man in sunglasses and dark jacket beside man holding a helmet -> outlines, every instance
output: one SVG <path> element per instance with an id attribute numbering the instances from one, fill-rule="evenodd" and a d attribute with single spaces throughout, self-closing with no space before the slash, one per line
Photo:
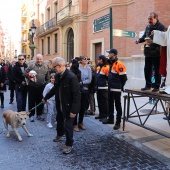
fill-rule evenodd
<path id="1" fill-rule="evenodd" d="M 25 58 L 23 55 L 18 56 L 18 62 L 13 67 L 13 79 L 15 81 L 15 91 L 17 99 L 17 111 L 26 110 L 26 99 L 27 99 L 27 85 L 25 81 Z"/>

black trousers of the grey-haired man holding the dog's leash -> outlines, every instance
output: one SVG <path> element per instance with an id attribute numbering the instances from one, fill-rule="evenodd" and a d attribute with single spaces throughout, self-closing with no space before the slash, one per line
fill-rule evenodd
<path id="1" fill-rule="evenodd" d="M 66 135 L 67 146 L 73 145 L 73 122 L 74 118 L 65 118 L 62 112 L 57 112 L 57 135 L 63 136 Z"/>

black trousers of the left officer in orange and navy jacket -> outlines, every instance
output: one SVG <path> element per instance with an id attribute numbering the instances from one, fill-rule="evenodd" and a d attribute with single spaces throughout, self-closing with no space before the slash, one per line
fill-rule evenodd
<path id="1" fill-rule="evenodd" d="M 108 113 L 108 90 L 100 89 L 97 91 L 97 102 L 99 108 L 99 116 L 106 118 Z"/>

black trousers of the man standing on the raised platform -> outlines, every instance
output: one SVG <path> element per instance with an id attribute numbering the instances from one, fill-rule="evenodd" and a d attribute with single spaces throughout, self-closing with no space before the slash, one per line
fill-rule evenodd
<path id="1" fill-rule="evenodd" d="M 144 75 L 145 75 L 145 81 L 146 81 L 146 87 L 153 87 L 158 89 L 161 84 L 161 75 L 159 74 L 159 66 L 160 66 L 160 57 L 145 57 L 145 67 L 144 67 Z M 154 67 L 155 71 L 155 83 L 152 84 L 151 82 L 151 76 L 152 76 L 152 70 Z"/>

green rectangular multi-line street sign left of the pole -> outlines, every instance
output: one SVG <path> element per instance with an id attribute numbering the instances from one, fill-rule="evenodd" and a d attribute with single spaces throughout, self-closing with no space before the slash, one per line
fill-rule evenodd
<path id="1" fill-rule="evenodd" d="M 93 21 L 93 32 L 101 31 L 110 27 L 110 14 L 106 14 Z"/>

